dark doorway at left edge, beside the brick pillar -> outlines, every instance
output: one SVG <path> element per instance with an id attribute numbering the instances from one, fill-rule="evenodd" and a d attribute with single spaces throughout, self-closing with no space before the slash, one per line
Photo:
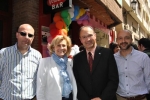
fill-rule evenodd
<path id="1" fill-rule="evenodd" d="M 12 34 L 11 0 L 0 0 L 0 49 L 11 45 Z"/>

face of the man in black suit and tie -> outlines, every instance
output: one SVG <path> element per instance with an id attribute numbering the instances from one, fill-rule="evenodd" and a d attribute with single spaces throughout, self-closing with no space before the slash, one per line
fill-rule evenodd
<path id="1" fill-rule="evenodd" d="M 96 46 L 96 34 L 90 27 L 83 27 L 80 31 L 80 41 L 90 51 Z"/>

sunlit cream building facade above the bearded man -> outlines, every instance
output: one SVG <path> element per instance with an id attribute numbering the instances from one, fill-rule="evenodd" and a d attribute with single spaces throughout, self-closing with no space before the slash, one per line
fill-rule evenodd
<path id="1" fill-rule="evenodd" d="M 132 1 L 136 2 L 133 9 Z M 150 3 L 149 0 L 122 0 L 123 23 L 115 27 L 116 31 L 128 29 L 132 31 L 133 42 L 150 36 Z"/>

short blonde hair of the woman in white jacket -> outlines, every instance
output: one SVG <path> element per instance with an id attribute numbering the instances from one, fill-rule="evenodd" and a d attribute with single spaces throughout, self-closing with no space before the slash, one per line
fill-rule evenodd
<path id="1" fill-rule="evenodd" d="M 66 55 L 69 56 L 71 52 L 71 39 L 66 35 L 57 35 L 51 42 L 49 46 L 50 54 L 54 53 L 54 47 L 58 45 L 62 40 L 66 40 L 67 42 L 67 52 Z"/>

